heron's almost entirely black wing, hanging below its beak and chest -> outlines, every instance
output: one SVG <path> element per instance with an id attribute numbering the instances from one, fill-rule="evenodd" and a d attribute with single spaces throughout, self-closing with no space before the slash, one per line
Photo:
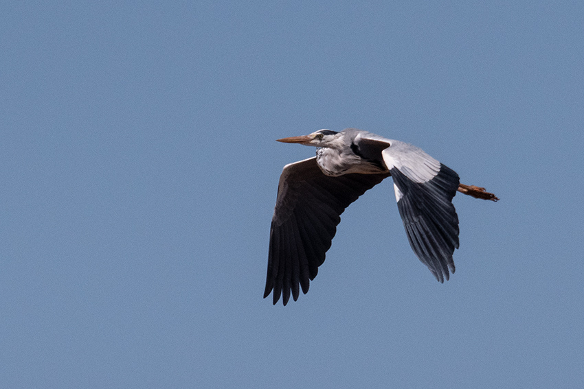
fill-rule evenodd
<path id="1" fill-rule="evenodd" d="M 282 294 L 286 305 L 290 292 L 297 300 L 299 285 L 306 294 L 337 232 L 341 213 L 388 176 L 325 176 L 314 157 L 284 166 L 270 228 L 264 297 L 273 290 L 273 303 Z"/>

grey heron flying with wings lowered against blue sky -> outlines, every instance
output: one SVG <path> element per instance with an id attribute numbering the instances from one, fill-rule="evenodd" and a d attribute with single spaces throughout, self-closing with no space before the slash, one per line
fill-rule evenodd
<path id="1" fill-rule="evenodd" d="M 284 166 L 278 184 L 268 253 L 264 298 L 286 305 L 324 262 L 341 213 L 359 196 L 392 176 L 399 214 L 414 253 L 441 283 L 454 272 L 458 248 L 456 191 L 499 200 L 474 185 L 460 184 L 458 174 L 423 150 L 354 128 L 318 130 L 278 139 L 317 147 L 316 156 Z"/>

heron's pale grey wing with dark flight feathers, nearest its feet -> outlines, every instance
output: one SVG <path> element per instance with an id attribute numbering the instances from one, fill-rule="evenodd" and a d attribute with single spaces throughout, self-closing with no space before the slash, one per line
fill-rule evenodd
<path id="1" fill-rule="evenodd" d="M 381 154 L 394 178 L 409 245 L 436 279 L 444 282 L 449 270 L 455 270 L 452 254 L 458 248 L 458 215 L 452 204 L 458 174 L 413 145 L 388 142 L 390 147 Z"/>

